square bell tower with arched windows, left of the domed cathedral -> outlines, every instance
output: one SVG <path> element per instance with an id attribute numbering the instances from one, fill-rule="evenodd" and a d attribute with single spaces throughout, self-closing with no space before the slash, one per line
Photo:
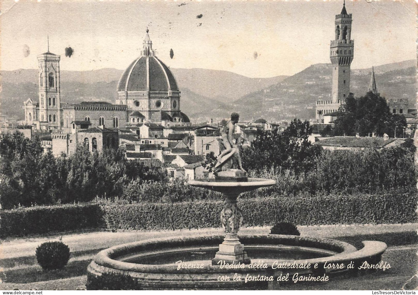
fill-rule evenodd
<path id="1" fill-rule="evenodd" d="M 41 129 L 61 128 L 60 56 L 48 51 L 38 55 L 39 124 Z"/>

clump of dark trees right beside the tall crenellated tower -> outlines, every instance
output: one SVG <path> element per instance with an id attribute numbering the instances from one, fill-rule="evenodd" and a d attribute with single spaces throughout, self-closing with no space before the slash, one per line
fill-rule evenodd
<path id="1" fill-rule="evenodd" d="M 345 104 L 340 107 L 340 115 L 334 125 L 330 135 L 359 133 L 360 136 L 370 136 L 375 132 L 378 136 L 386 133 L 394 137 L 396 132 L 397 137 L 403 137 L 407 127 L 405 117 L 401 114 L 392 114 L 386 99 L 373 92 L 367 92 L 357 99 L 353 96 L 347 97 Z"/>

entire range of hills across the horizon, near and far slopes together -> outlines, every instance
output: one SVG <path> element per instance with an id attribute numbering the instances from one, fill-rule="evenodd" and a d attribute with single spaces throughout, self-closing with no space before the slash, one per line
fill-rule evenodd
<path id="1" fill-rule="evenodd" d="M 331 96 L 331 64 L 314 64 L 290 76 L 255 79 L 226 71 L 172 69 L 181 90 L 181 109 L 190 119 L 220 120 L 237 111 L 242 120 L 314 119 L 315 102 Z M 359 97 L 368 90 L 372 69 L 352 69 L 350 89 Z M 63 102 L 115 102 L 116 86 L 122 71 L 62 71 Z M 415 61 L 375 67 L 377 89 L 387 98 L 416 100 Z M 1 71 L 1 112 L 9 118 L 23 117 L 23 102 L 38 100 L 37 70 Z"/>

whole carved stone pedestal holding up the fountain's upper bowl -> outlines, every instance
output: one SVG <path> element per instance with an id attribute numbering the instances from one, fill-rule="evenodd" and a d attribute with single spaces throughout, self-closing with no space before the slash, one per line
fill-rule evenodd
<path id="1" fill-rule="evenodd" d="M 249 264 L 250 258 L 244 251 L 244 245 L 240 243 L 237 233 L 244 221 L 242 211 L 237 206 L 237 197 L 240 193 L 224 193 L 226 196 L 225 207 L 221 212 L 221 224 L 225 231 L 225 238 L 219 244 L 219 251 L 212 259 L 212 265 L 218 265 L 219 261 L 226 263 Z"/>

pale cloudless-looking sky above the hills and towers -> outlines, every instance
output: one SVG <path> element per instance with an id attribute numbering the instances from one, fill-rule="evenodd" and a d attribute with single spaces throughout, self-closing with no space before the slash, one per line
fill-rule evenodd
<path id="1" fill-rule="evenodd" d="M 416 58 L 413 0 L 347 1 L 346 8 L 353 14 L 352 68 Z M 140 55 L 148 26 L 157 56 L 173 68 L 292 75 L 330 63 L 329 42 L 341 9 L 342 0 L 1 0 L 1 69 L 37 69 L 47 35 L 50 51 L 61 55 L 61 70 L 125 69 Z M 64 55 L 68 46 L 75 50 L 71 58 Z"/>

